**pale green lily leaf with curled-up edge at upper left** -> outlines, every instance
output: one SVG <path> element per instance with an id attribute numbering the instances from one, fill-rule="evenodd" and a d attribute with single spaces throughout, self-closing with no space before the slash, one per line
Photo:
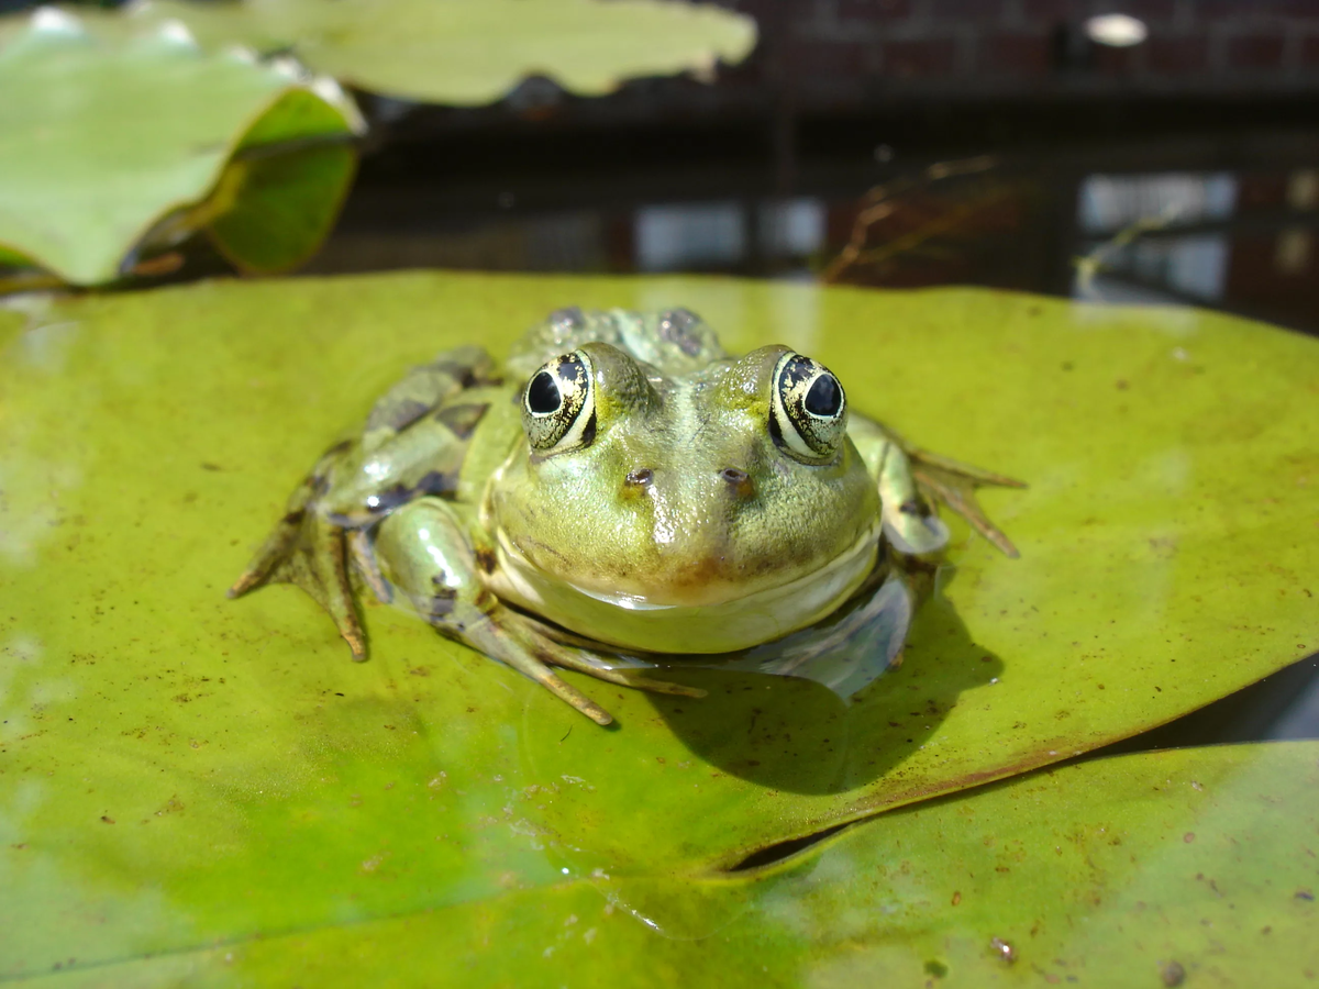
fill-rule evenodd
<path id="1" fill-rule="evenodd" d="M 0 262 L 103 284 L 216 218 L 243 268 L 310 253 L 352 177 L 351 104 L 203 55 L 178 24 L 132 36 L 107 22 L 88 32 L 42 11 L 0 50 Z M 247 158 L 231 162 L 239 149 Z"/>

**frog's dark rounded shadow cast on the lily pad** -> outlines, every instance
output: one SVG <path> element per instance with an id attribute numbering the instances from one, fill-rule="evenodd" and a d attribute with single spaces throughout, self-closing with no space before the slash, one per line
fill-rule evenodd
<path id="1" fill-rule="evenodd" d="M 799 794 L 863 786 L 923 746 L 964 690 L 988 684 L 1002 671 L 997 657 L 971 641 L 951 603 L 929 595 L 933 575 L 915 578 L 917 599 L 929 600 L 911 620 L 904 661 L 886 673 L 902 644 L 885 634 L 896 633 L 896 621 L 867 624 L 865 636 L 835 641 L 835 651 L 778 670 L 791 675 L 669 669 L 666 676 L 710 695 L 649 700 L 674 734 L 721 771 Z M 894 600 L 886 607 L 894 616 L 900 611 Z"/>

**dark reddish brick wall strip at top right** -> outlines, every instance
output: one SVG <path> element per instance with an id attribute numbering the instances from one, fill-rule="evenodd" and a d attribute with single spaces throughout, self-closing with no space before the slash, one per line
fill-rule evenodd
<path id="1" fill-rule="evenodd" d="M 807 92 L 1319 90 L 1319 0 L 724 0 L 761 26 L 757 74 Z M 1091 42 L 1120 12 L 1145 42 Z"/>

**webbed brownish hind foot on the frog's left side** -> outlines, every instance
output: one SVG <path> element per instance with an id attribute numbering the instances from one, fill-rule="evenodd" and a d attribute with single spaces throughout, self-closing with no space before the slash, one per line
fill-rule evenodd
<path id="1" fill-rule="evenodd" d="M 351 533 L 346 539 L 342 526 L 332 524 L 310 506 L 321 483 L 322 468 L 335 452 L 331 450 L 322 458 L 317 469 L 289 498 L 284 518 L 276 524 L 247 570 L 233 582 L 228 596 L 240 597 L 266 584 L 295 584 L 328 612 L 339 634 L 352 650 L 352 658 L 360 662 L 367 658 L 367 637 L 357 620 L 352 585 L 348 582 L 346 542 L 353 546 L 352 559 L 357 562 L 367 583 L 375 587 L 372 575 L 375 582 L 383 582 L 369 558 L 363 560 L 360 556 L 361 551 L 356 543 L 360 534 Z"/>

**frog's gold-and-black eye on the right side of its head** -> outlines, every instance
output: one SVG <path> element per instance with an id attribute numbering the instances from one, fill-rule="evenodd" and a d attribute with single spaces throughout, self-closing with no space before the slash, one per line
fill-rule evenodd
<path id="1" fill-rule="evenodd" d="M 834 372 L 799 353 L 785 353 L 774 368 L 769 433 L 803 460 L 832 459 L 847 436 L 847 396 Z"/>

